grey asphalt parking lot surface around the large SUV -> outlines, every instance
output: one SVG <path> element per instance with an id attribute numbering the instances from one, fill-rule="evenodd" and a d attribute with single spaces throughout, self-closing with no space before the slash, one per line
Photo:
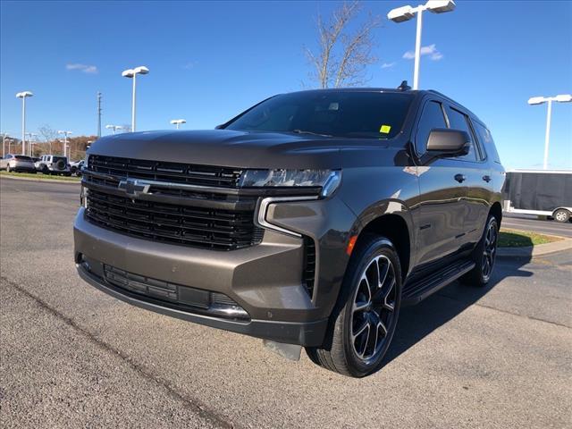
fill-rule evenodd
<path id="1" fill-rule="evenodd" d="M 356 380 L 81 282 L 78 190 L 0 180 L 3 427 L 572 425 L 572 251 L 404 309 L 386 365 Z"/>

